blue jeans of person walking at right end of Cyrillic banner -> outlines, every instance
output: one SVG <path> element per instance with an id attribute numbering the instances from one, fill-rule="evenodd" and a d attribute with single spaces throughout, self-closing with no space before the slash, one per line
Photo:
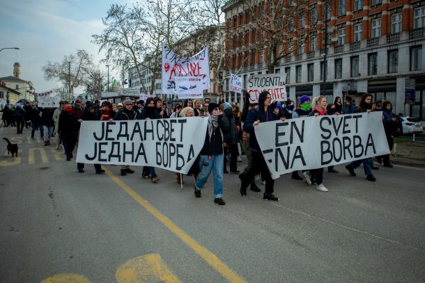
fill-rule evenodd
<path id="1" fill-rule="evenodd" d="M 214 197 L 223 196 L 223 163 L 224 155 L 201 155 L 199 156 L 199 175 L 196 179 L 195 187 L 197 190 L 201 190 L 205 185 L 208 177 L 210 177 L 211 171 L 214 175 Z"/>

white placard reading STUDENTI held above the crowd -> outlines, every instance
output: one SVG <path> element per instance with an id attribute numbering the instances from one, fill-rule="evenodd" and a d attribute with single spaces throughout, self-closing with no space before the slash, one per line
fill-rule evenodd
<path id="1" fill-rule="evenodd" d="M 258 96 L 264 90 L 270 92 L 270 96 L 273 100 L 282 102 L 287 99 L 286 94 L 286 74 L 254 74 L 249 76 L 248 79 L 248 93 L 249 100 L 254 103 L 258 102 Z"/>

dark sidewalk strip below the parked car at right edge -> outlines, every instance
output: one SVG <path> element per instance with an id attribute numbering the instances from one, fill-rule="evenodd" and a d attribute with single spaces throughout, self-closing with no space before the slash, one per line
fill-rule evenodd
<path id="1" fill-rule="evenodd" d="M 425 168 L 425 143 L 394 138 L 391 163 Z"/>

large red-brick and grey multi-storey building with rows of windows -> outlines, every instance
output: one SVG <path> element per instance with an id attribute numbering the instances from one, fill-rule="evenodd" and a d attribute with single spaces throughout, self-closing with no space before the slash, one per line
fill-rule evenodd
<path id="1" fill-rule="evenodd" d="M 270 13 L 270 1 L 261 4 L 265 14 Z M 284 5 L 297 5 L 297 1 L 284 0 Z M 289 55 L 275 67 L 275 72 L 286 73 L 289 98 L 299 101 L 302 95 L 325 93 L 328 102 L 344 95 L 358 101 L 369 92 L 375 100 L 392 101 L 394 113 L 425 120 L 425 1 L 325 0 L 308 1 L 305 6 L 306 15 L 295 18 L 293 26 L 282 35 L 284 43 L 279 51 Z M 240 0 L 229 1 L 222 10 L 229 31 L 227 74 L 239 71 L 246 89 L 250 75 L 268 72 L 265 63 L 268 50 L 256 49 L 256 42 L 268 38 L 260 29 L 249 28 L 252 17 Z M 285 42 L 293 40 L 291 32 L 313 25 L 316 31 L 304 44 L 288 50 Z M 233 43 L 240 35 L 245 35 L 242 46 Z M 326 90 L 323 90 L 324 68 Z M 224 88 L 229 90 L 227 86 Z M 415 102 L 406 103 L 405 94 L 412 88 Z"/>

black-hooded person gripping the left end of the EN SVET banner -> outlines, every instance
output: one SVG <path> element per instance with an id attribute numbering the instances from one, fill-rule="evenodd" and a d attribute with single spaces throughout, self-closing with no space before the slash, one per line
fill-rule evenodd
<path id="1" fill-rule="evenodd" d="M 267 90 L 261 92 L 258 96 L 258 108 L 249 111 L 247 120 L 245 120 L 245 124 L 243 125 L 243 130 L 249 133 L 249 145 L 251 145 L 252 151 L 252 167 L 247 174 L 240 176 L 240 194 L 242 196 L 247 195 L 247 186 L 252 183 L 255 175 L 261 172 L 261 176 L 265 179 L 263 200 L 278 202 L 279 197 L 273 195 L 275 180 L 273 180 L 270 175 L 270 171 L 268 170 L 267 163 L 265 163 L 254 131 L 255 127 L 260 123 L 277 120 L 275 113 L 270 109 L 271 100 L 272 98 Z M 281 118 L 281 120 L 285 121 L 286 119 Z"/>

